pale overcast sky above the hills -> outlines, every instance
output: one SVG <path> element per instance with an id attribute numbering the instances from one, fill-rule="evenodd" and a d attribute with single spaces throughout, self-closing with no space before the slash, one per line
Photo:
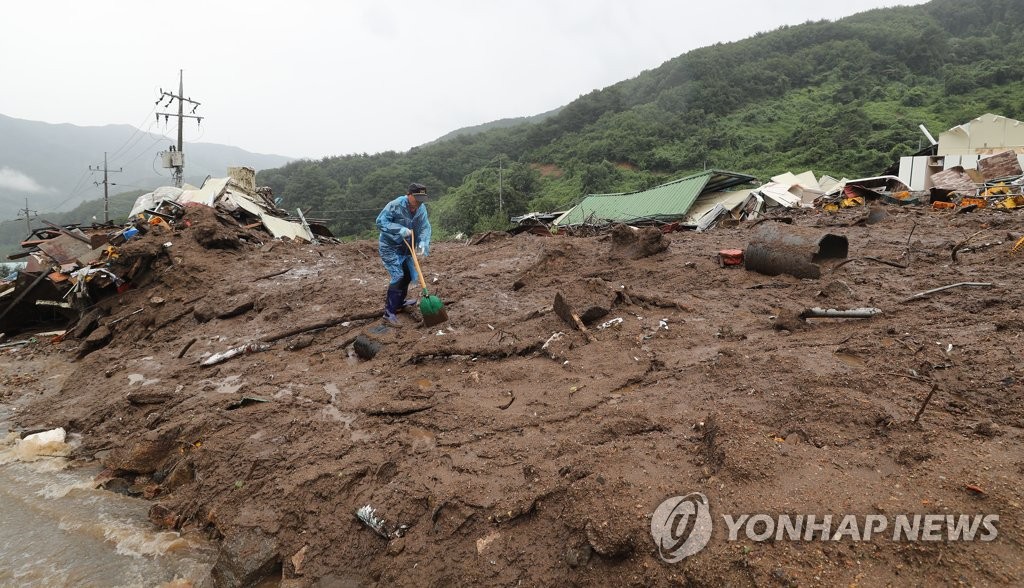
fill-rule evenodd
<path id="1" fill-rule="evenodd" d="M 183 69 L 206 117 L 186 141 L 306 158 L 406 151 L 550 111 L 690 49 L 921 3 L 5 2 L 0 114 L 165 132 L 154 102 Z"/>

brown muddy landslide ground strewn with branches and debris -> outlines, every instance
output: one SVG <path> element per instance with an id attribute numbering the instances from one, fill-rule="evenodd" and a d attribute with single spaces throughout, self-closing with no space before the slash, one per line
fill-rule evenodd
<path id="1" fill-rule="evenodd" d="M 365 320 L 384 297 L 376 242 L 194 225 L 127 253 L 153 256 L 152 282 L 100 305 L 105 346 L 5 352 L 2 402 L 24 428 L 81 433 L 80 457 L 108 468 L 97 484 L 152 498 L 156 524 L 221 541 L 223 584 L 1020 585 L 1024 216 L 888 212 L 795 213 L 858 258 L 818 280 L 720 267 L 750 223 L 636 259 L 657 244 L 435 243 L 424 270 L 451 321 L 430 329 Z M 1001 244 L 954 262 L 972 235 Z M 961 282 L 994 286 L 904 302 Z M 557 293 L 587 333 L 552 310 Z M 884 313 L 796 317 L 811 306 Z M 357 335 L 376 356 L 354 353 Z M 650 517 L 691 492 L 716 529 L 667 563 Z M 368 504 L 404 536 L 360 522 Z M 723 513 L 999 520 L 991 542 L 754 542 L 728 541 Z"/>

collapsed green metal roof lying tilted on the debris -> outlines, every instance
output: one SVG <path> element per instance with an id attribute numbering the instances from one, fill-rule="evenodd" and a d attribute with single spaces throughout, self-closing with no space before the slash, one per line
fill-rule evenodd
<path id="1" fill-rule="evenodd" d="M 705 192 L 720 192 L 754 181 L 752 175 L 708 170 L 650 190 L 628 194 L 593 194 L 563 214 L 555 224 L 568 226 L 603 222 L 660 220 L 671 222 L 686 216 Z"/>

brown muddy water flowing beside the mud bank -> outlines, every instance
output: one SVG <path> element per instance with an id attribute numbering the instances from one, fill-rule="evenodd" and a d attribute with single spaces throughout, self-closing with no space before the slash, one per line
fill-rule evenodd
<path id="1" fill-rule="evenodd" d="M 212 547 L 157 531 L 143 500 L 94 490 L 96 468 L 17 455 L 4 416 L 0 407 L 0 586 L 176 586 L 209 575 Z"/>

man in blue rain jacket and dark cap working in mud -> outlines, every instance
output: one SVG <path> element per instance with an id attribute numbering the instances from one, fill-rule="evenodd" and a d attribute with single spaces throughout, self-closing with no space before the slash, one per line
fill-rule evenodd
<path id="1" fill-rule="evenodd" d="M 384 267 L 391 276 L 384 301 L 384 320 L 398 324 L 397 313 L 407 306 L 415 306 L 416 300 L 407 300 L 409 285 L 417 279 L 413 256 L 406 242 L 415 237 L 417 255 L 430 254 L 430 220 L 427 218 L 427 186 L 413 182 L 406 196 L 387 203 L 377 215 L 377 228 L 381 232 L 379 251 Z"/>

